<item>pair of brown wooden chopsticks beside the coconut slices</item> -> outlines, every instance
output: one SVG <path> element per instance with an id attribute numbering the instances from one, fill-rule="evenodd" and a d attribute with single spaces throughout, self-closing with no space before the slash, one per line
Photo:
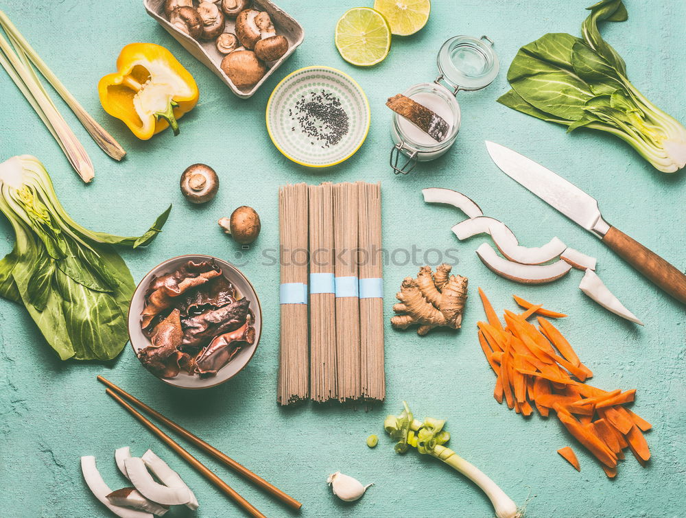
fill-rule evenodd
<path id="1" fill-rule="evenodd" d="M 150 408 L 148 405 L 143 403 L 143 401 L 140 401 L 139 399 L 136 399 L 132 395 L 130 395 L 126 390 L 123 390 L 116 386 L 115 384 L 112 383 L 112 381 L 108 381 L 108 379 L 105 379 L 102 376 L 98 376 L 97 380 L 100 381 L 102 384 L 106 385 L 108 388 L 105 390 L 108 396 L 112 397 L 117 403 L 119 403 L 123 408 L 128 410 L 132 416 L 134 416 L 138 421 L 140 421 L 147 429 L 150 430 L 154 435 L 158 436 L 167 446 L 169 446 L 171 449 L 176 451 L 176 453 L 186 462 L 191 464 L 191 467 L 196 469 L 201 475 L 204 476 L 207 480 L 212 482 L 217 488 L 220 488 L 221 491 L 226 493 L 230 499 L 232 499 L 234 502 L 236 502 L 241 508 L 243 508 L 250 516 L 256 517 L 256 518 L 266 518 L 265 515 L 259 512 L 255 506 L 250 504 L 248 500 L 246 500 L 244 497 L 241 497 L 233 488 L 231 488 L 224 480 L 219 478 L 213 471 L 210 471 L 209 468 L 207 468 L 200 460 L 196 459 L 193 457 L 191 454 L 188 453 L 182 446 L 180 446 L 174 439 L 169 437 L 165 432 L 163 432 L 161 429 L 159 429 L 152 421 L 147 419 L 143 414 L 138 412 L 135 408 L 133 408 L 129 403 L 124 401 L 125 399 L 136 405 L 138 408 L 143 410 L 143 412 L 149 414 L 150 416 L 154 417 L 157 421 L 160 421 L 161 423 L 164 423 L 167 425 L 169 428 L 174 430 L 177 434 L 188 440 L 190 443 L 193 443 L 202 451 L 205 451 L 207 454 L 210 454 L 213 456 L 215 459 L 219 460 L 220 462 L 226 464 L 230 469 L 233 469 L 236 473 L 239 475 L 243 475 L 245 478 L 250 480 L 250 482 L 253 482 L 263 490 L 265 490 L 267 493 L 275 497 L 276 499 L 281 500 L 284 504 L 287 506 L 293 508 L 293 509 L 300 509 L 303 504 L 298 502 L 298 500 L 294 499 L 293 497 L 287 495 L 281 489 L 277 488 L 276 486 L 272 486 L 269 482 L 264 480 L 263 478 L 259 477 L 259 475 L 256 475 L 255 473 L 252 473 L 248 468 L 242 466 L 232 458 L 228 457 L 226 454 L 223 454 L 221 451 L 213 447 L 212 445 L 209 445 L 206 443 L 204 440 L 199 438 L 196 435 L 191 434 L 187 429 L 184 427 L 181 427 L 174 423 L 174 421 L 170 421 L 167 419 L 165 416 L 157 412 L 156 410 L 153 410 Z"/>

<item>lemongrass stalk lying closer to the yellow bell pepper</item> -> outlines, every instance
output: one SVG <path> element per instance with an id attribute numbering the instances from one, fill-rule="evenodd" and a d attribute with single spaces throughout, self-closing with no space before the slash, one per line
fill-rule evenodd
<path id="1" fill-rule="evenodd" d="M 62 84 L 59 78 L 49 69 L 47 64 L 38 56 L 38 53 L 14 26 L 8 16 L 0 11 L 0 26 L 12 40 L 14 47 L 21 49 L 27 57 L 36 65 L 36 68 L 49 81 L 53 88 L 60 94 L 64 102 L 73 111 L 74 115 L 81 121 L 86 131 L 91 134 L 93 140 L 100 148 L 115 160 L 121 160 L 126 155 L 126 151 L 119 145 L 115 138 L 100 126 L 83 106 L 75 99 L 67 87 Z"/>

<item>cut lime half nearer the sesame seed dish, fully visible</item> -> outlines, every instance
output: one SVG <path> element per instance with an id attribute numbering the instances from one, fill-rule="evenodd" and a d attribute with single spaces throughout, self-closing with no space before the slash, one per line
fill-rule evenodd
<path id="1" fill-rule="evenodd" d="M 366 7 L 349 10 L 336 24 L 336 48 L 358 67 L 383 61 L 390 50 L 390 26 L 381 13 Z"/>

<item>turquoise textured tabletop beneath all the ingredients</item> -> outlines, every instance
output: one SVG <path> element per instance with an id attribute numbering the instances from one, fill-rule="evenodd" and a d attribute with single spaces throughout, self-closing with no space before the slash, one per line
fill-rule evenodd
<path id="1" fill-rule="evenodd" d="M 371 3 L 371 1 L 369 2 Z M 93 517 L 108 511 L 86 488 L 79 457 L 95 455 L 112 488 L 124 485 L 113 452 L 130 445 L 135 455 L 152 447 L 177 469 L 200 502 L 197 513 L 175 508 L 170 517 L 233 517 L 241 511 L 104 393 L 102 374 L 253 469 L 304 507 L 291 513 L 217 462 L 198 458 L 269 517 L 397 517 L 427 515 L 488 518 L 493 509 L 473 484 L 434 459 L 394 454 L 383 433 L 386 414 L 407 399 L 417 416 L 448 420 L 453 449 L 490 475 L 532 518 L 676 518 L 686 514 L 685 311 L 598 239 L 569 222 L 493 165 L 484 139 L 513 148 L 562 174 L 598 198 L 606 219 L 683 270 L 686 268 L 684 174 L 652 169 L 622 142 L 597 132 L 566 135 L 563 128 L 505 108 L 495 99 L 507 89 L 506 69 L 517 49 L 545 32 L 578 35 L 591 0 L 436 0 L 427 26 L 415 36 L 394 38 L 377 67 L 357 69 L 338 55 L 333 30 L 338 17 L 357 4 L 288 1 L 279 4 L 305 27 L 305 42 L 261 90 L 248 100 L 230 93 L 143 10 L 141 1 L 22 1 L 3 5 L 45 62 L 91 114 L 128 151 L 121 163 L 91 141 L 54 95 L 95 164 L 95 180 L 83 185 L 29 104 L 0 73 L 0 158 L 34 154 L 49 169 L 60 200 L 75 220 L 96 230 L 143 232 L 169 202 L 164 232 L 147 250 L 123 252 L 134 279 L 164 259 L 206 253 L 237 264 L 254 283 L 265 316 L 257 354 L 248 368 L 217 388 L 185 391 L 165 386 L 139 365 L 130 346 L 109 364 L 60 362 L 23 308 L 0 301 L 0 515 L 8 518 Z M 627 0 L 629 20 L 605 24 L 602 34 L 626 59 L 632 82 L 657 106 L 686 121 L 686 4 L 676 0 Z M 421 164 L 407 177 L 388 166 L 391 142 L 386 98 L 438 75 L 436 53 L 456 34 L 495 41 L 502 69 L 487 89 L 460 93 L 462 128 L 442 158 Z M 180 121 L 174 138 L 164 132 L 138 141 L 123 123 L 104 113 L 96 84 L 115 70 L 121 47 L 133 41 L 159 43 L 191 71 L 200 86 L 198 107 Z M 265 130 L 264 109 L 277 82 L 300 67 L 322 64 L 350 74 L 368 95 L 372 123 L 362 148 L 345 163 L 324 170 L 300 167 L 283 157 Z M 215 200 L 188 204 L 178 189 L 187 165 L 208 163 L 220 174 Z M 279 349 L 278 185 L 344 180 L 381 180 L 383 244 L 416 252 L 431 263 L 435 251 L 452 250 L 456 272 L 470 280 L 462 329 L 420 338 L 388 326 L 394 292 L 418 266 L 403 252 L 384 271 L 388 398 L 365 412 L 333 405 L 278 408 Z M 521 286 L 500 279 L 477 259 L 483 241 L 458 242 L 450 227 L 464 216 L 450 207 L 425 205 L 423 187 L 449 187 L 471 196 L 486 215 L 506 222 L 522 244 L 541 246 L 554 235 L 598 257 L 598 274 L 646 323 L 637 327 L 589 301 L 578 290 L 581 273 L 556 283 Z M 217 226 L 235 207 L 255 207 L 262 233 L 241 250 Z M 10 226 L 0 222 L 0 253 L 10 251 Z M 416 248 L 413 248 L 416 247 Z M 519 294 L 569 313 L 560 329 L 595 373 L 600 388 L 637 388 L 634 408 L 654 423 L 647 434 L 653 458 L 647 468 L 628 458 L 616 480 L 578 446 L 556 419 L 530 419 L 498 405 L 494 377 L 477 344 L 483 318 L 476 294 L 484 287 L 498 311 L 515 309 Z M 369 434 L 379 445 L 365 445 Z M 185 443 L 182 443 L 185 445 Z M 556 449 L 571 445 L 582 465 L 569 467 Z M 343 471 L 374 482 L 362 500 L 342 504 L 331 495 L 329 473 Z"/>

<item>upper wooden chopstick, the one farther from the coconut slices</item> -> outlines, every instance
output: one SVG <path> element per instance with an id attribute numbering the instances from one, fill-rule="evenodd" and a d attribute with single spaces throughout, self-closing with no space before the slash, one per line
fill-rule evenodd
<path id="1" fill-rule="evenodd" d="M 230 469 L 233 469 L 233 471 L 235 471 L 239 475 L 244 476 L 245 478 L 250 480 L 250 482 L 253 482 L 257 486 L 262 488 L 264 491 L 268 492 L 270 495 L 281 500 L 281 502 L 283 502 L 284 504 L 287 504 L 287 506 L 292 507 L 294 509 L 300 509 L 303 506 L 303 504 L 298 502 L 298 500 L 294 499 L 292 496 L 287 495 L 286 493 L 281 491 L 281 489 L 277 488 L 276 486 L 273 486 L 272 484 L 261 478 L 259 475 L 252 473 L 252 471 L 250 471 L 248 468 L 242 466 L 241 464 L 239 464 L 226 454 L 222 453 L 222 451 L 219 451 L 212 445 L 209 445 L 200 437 L 191 434 L 191 432 L 189 432 L 184 427 L 181 427 L 174 423 L 174 421 L 167 419 L 165 416 L 163 416 L 156 410 L 153 410 L 145 403 L 143 403 L 143 401 L 133 397 L 128 392 L 126 392 L 126 390 L 123 390 L 122 388 L 119 388 L 117 385 L 113 384 L 112 381 L 109 381 L 108 379 L 105 379 L 102 376 L 98 376 L 97 379 L 102 384 L 105 384 L 110 389 L 117 392 L 117 394 L 119 394 L 121 397 L 128 399 L 128 401 L 136 405 L 138 408 L 140 408 L 147 414 L 153 416 L 158 421 L 161 421 L 161 423 L 167 425 L 169 428 L 174 430 L 174 432 L 188 440 L 190 443 L 193 443 L 194 445 L 202 449 L 202 451 L 205 451 L 206 453 L 210 454 L 215 459 L 219 460 L 223 464 L 226 464 L 226 466 L 230 467 Z"/>

